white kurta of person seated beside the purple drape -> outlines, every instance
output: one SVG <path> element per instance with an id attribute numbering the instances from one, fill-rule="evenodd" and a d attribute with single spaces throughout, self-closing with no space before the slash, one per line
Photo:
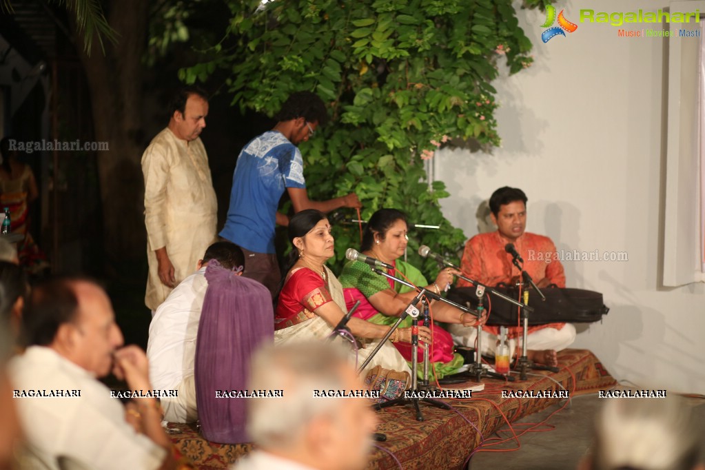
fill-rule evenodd
<path id="1" fill-rule="evenodd" d="M 197 419 L 193 369 L 198 322 L 208 290 L 205 273 L 203 267 L 177 285 L 149 324 L 149 379 L 155 389 L 178 390 L 178 397 L 161 398 L 164 419 L 174 423 Z"/>

